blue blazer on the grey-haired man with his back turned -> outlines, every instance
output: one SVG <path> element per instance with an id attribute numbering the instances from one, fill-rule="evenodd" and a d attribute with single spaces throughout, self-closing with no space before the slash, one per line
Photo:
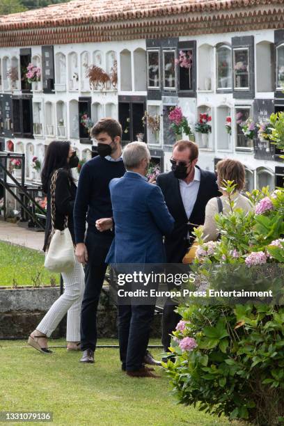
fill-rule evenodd
<path id="1" fill-rule="evenodd" d="M 106 262 L 166 262 L 163 235 L 173 230 L 174 219 L 161 189 L 132 172 L 111 180 L 109 189 L 115 237 Z"/>

